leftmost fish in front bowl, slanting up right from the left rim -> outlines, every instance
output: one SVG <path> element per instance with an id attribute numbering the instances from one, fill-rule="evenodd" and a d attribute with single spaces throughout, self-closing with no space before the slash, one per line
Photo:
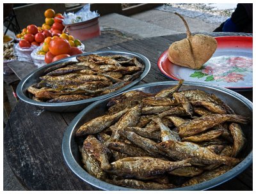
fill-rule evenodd
<path id="1" fill-rule="evenodd" d="M 120 117 L 122 117 L 128 110 L 122 110 L 113 115 L 104 115 L 92 119 L 83 124 L 77 131 L 76 136 L 91 135 L 99 133 L 100 131 L 108 128 L 111 124 L 116 123 Z"/>

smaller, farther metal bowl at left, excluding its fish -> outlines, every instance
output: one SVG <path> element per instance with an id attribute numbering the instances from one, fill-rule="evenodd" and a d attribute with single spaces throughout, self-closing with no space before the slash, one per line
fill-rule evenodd
<path id="1" fill-rule="evenodd" d="M 20 98 L 20 100 L 25 101 L 26 103 L 29 103 L 31 105 L 36 105 L 38 108 L 42 108 L 45 110 L 49 111 L 54 111 L 54 112 L 78 112 L 80 110 L 83 110 L 85 107 L 93 103 L 94 101 L 97 100 L 102 100 L 104 98 L 108 98 L 109 96 L 113 96 L 117 93 L 120 93 L 122 91 L 125 91 L 129 89 L 130 87 L 138 84 L 148 73 L 150 70 L 150 61 L 147 59 L 147 57 L 138 54 L 136 52 L 122 52 L 122 51 L 97 51 L 97 52 L 87 52 L 86 54 L 80 54 L 78 56 L 84 56 L 88 54 L 99 54 L 100 56 L 113 56 L 113 55 L 122 55 L 122 56 L 127 56 L 127 57 L 136 57 L 140 63 L 145 64 L 145 70 L 143 73 L 141 73 L 140 77 L 136 78 L 136 80 L 132 81 L 131 84 L 128 84 L 112 93 L 104 94 L 102 96 L 97 96 L 95 98 L 90 98 L 87 100 L 79 100 L 79 101 L 70 101 L 70 102 L 65 102 L 65 103 L 47 103 L 47 102 L 39 102 L 32 100 L 28 96 L 28 92 L 26 91 L 29 86 L 32 84 L 38 83 L 39 77 L 44 75 L 44 71 L 56 64 L 64 63 L 67 61 L 77 61 L 76 56 L 68 57 L 65 59 L 62 59 L 58 62 L 51 63 L 45 66 L 42 66 L 38 70 L 33 71 L 29 75 L 27 75 L 25 78 L 23 78 L 19 85 L 17 86 L 16 92 L 17 96 Z"/>

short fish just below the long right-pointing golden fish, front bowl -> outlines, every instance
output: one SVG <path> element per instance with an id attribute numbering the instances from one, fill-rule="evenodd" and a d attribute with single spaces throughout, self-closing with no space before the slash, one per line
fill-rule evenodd
<path id="1" fill-rule="evenodd" d="M 217 130 L 209 130 L 202 132 L 197 135 L 191 135 L 189 137 L 184 137 L 182 138 L 182 141 L 187 141 L 187 142 L 205 142 L 212 140 L 214 138 L 220 137 L 223 133 L 223 130 L 217 129 Z"/>

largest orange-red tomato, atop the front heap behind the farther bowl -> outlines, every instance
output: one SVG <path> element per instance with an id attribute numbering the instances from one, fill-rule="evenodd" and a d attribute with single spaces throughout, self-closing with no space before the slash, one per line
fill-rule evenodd
<path id="1" fill-rule="evenodd" d="M 71 47 L 67 40 L 62 38 L 54 38 L 49 43 L 49 50 L 52 54 L 54 54 L 54 56 L 58 56 L 60 54 L 68 54 Z"/>

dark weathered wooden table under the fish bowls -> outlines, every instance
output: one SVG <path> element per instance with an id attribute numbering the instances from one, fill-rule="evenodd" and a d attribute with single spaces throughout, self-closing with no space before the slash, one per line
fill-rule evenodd
<path id="1" fill-rule="evenodd" d="M 207 34 L 252 36 L 252 34 L 240 33 Z M 175 34 L 127 40 L 106 46 L 101 50 L 129 50 L 143 54 L 148 57 L 152 66 L 147 77 L 140 84 L 166 81 L 170 79 L 159 71 L 157 60 L 173 41 L 185 37 L 186 34 Z M 90 41 L 93 45 L 93 40 Z M 15 71 L 15 73 L 19 77 L 19 72 Z M 252 101 L 252 91 L 241 94 Z M 73 174 L 63 159 L 61 151 L 63 133 L 77 114 L 78 112 L 60 114 L 42 111 L 23 101 L 19 101 L 13 109 L 4 130 L 4 149 L 10 167 L 27 190 L 98 190 Z M 211 190 L 252 190 L 252 172 L 251 165 L 237 177 Z"/>

